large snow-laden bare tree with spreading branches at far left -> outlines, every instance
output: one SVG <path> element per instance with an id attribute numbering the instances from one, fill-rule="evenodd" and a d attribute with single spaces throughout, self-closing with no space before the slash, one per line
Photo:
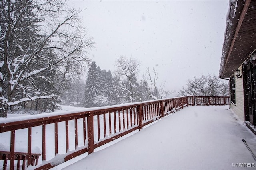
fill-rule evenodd
<path id="1" fill-rule="evenodd" d="M 53 87 L 88 62 L 93 43 L 79 14 L 57 0 L 1 1 L 1 116 L 9 106 L 56 97 L 38 82 Z"/>

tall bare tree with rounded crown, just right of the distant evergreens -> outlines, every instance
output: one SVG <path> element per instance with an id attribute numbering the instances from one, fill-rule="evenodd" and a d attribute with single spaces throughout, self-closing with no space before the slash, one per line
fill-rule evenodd
<path id="1" fill-rule="evenodd" d="M 127 85 L 122 85 L 122 97 L 126 97 L 129 102 L 134 102 L 136 100 L 136 86 L 137 74 L 140 67 L 140 62 L 134 58 L 127 59 L 124 56 L 120 56 L 116 61 L 116 74 L 119 76 L 125 76 L 127 79 Z"/>

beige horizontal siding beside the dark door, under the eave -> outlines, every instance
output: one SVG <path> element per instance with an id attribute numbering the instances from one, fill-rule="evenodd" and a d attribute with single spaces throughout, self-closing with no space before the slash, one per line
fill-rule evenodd
<path id="1" fill-rule="evenodd" d="M 242 66 L 238 68 L 242 75 Z M 244 88 L 243 78 L 237 78 L 235 76 L 235 87 L 236 87 L 236 104 L 232 104 L 230 108 L 238 116 L 241 121 L 244 121 Z"/>

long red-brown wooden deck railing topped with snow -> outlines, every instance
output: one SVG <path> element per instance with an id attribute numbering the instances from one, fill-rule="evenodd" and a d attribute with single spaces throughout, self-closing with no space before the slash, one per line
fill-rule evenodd
<path id="1" fill-rule="evenodd" d="M 1 137 L 7 135 L 9 138 L 4 145 L 10 146 L 8 150 L 10 152 L 8 155 L 10 170 L 14 170 L 17 166 L 15 152 L 20 146 L 17 146 L 16 143 L 22 139 L 24 145 L 27 146 L 26 165 L 33 165 L 32 147 L 39 147 L 42 156 L 40 156 L 39 164 L 34 168 L 48 169 L 86 152 L 90 154 L 94 152 L 95 148 L 132 131 L 140 130 L 143 126 L 188 105 L 212 104 L 229 104 L 229 97 L 183 96 L 84 109 L 78 113 L 60 114 L 56 112 L 52 115 L 45 113 L 36 115 L 34 119 L 27 119 L 26 116 L 24 120 L 20 121 L 1 121 L 0 132 Z M 26 137 L 24 135 L 21 137 L 20 133 L 25 133 Z M 17 139 L 18 137 L 22 139 Z M 6 167 L 6 165 L 4 166 Z"/>

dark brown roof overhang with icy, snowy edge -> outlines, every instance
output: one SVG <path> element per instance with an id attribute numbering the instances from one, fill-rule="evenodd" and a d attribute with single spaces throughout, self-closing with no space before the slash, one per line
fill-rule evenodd
<path id="1" fill-rule="evenodd" d="M 230 1 L 220 78 L 230 78 L 256 49 L 256 1 Z"/>

